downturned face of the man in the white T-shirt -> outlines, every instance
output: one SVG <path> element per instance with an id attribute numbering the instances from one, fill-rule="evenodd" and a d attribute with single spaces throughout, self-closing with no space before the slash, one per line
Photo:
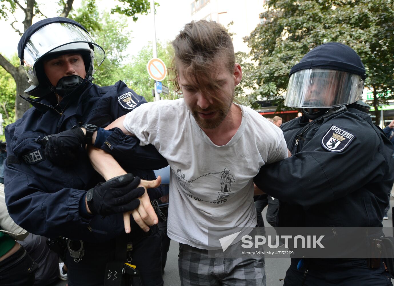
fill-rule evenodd
<path id="1" fill-rule="evenodd" d="M 226 69 L 224 62 L 216 65 L 219 72 L 212 71 L 209 81 L 200 80 L 196 82 L 190 77 L 185 69 L 178 68 L 178 83 L 182 89 L 185 103 L 196 122 L 203 129 L 214 129 L 226 118 L 232 100 L 234 98 L 234 87 L 242 79 L 242 70 L 239 64 L 234 65 L 234 72 Z M 214 84 L 212 84 L 214 82 Z M 211 88 L 215 86 L 215 88 Z"/>

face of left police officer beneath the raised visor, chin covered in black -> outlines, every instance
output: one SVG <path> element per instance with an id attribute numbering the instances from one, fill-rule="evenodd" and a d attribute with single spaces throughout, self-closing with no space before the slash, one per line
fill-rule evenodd
<path id="1" fill-rule="evenodd" d="M 44 72 L 53 86 L 59 79 L 70 75 L 86 76 L 85 64 L 80 54 L 65 54 L 44 61 Z"/>

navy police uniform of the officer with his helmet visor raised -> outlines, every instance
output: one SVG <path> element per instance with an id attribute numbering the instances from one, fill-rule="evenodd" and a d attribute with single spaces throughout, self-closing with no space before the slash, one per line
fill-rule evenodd
<path id="1" fill-rule="evenodd" d="M 53 94 L 26 99 L 33 107 L 6 127 L 6 200 L 13 220 L 33 234 L 64 236 L 85 243 L 85 255 L 80 262 L 74 262 L 67 255 L 70 286 L 103 284 L 106 262 L 115 256 L 115 240 L 125 232 L 123 215 L 89 215 L 85 209 L 85 193 L 104 179 L 89 163 L 84 148 L 79 148 L 76 163 L 59 166 L 45 158 L 40 138 L 81 123 L 105 127 L 146 102 L 122 81 L 105 87 L 91 82 L 84 84 L 78 97 L 66 96 L 58 106 Z M 137 138 L 125 136 L 120 130 L 111 133 L 103 148 L 121 162 L 126 172 L 141 179 L 155 179 L 149 169 L 167 165 L 153 146 L 139 148 Z M 121 160 L 123 153 L 136 148 L 135 160 Z M 162 192 L 156 188 L 149 189 L 148 193 L 153 199 Z M 131 239 L 132 264 L 137 265 L 143 282 L 161 285 L 160 236 L 156 226 L 147 236 L 134 223 Z"/>

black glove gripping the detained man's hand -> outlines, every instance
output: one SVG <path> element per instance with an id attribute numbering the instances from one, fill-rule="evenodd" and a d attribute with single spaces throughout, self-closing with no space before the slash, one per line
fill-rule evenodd
<path id="1" fill-rule="evenodd" d="M 138 187 L 141 179 L 125 174 L 99 183 L 87 191 L 86 202 L 93 214 L 112 215 L 132 211 L 139 206 L 138 197 L 145 193 Z"/>

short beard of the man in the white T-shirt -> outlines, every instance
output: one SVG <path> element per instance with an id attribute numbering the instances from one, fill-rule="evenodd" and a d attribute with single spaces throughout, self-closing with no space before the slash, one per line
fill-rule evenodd
<path id="1" fill-rule="evenodd" d="M 232 99 L 234 99 L 234 94 L 231 98 L 230 104 L 227 103 L 217 103 L 216 105 L 211 105 L 207 109 L 201 109 L 199 107 L 190 108 L 191 114 L 193 115 L 195 121 L 202 129 L 215 129 L 223 122 L 226 118 L 227 114 L 229 113 L 230 107 L 232 105 Z M 215 117 L 210 119 L 204 119 L 199 116 L 199 112 L 212 112 L 215 111 Z"/>

